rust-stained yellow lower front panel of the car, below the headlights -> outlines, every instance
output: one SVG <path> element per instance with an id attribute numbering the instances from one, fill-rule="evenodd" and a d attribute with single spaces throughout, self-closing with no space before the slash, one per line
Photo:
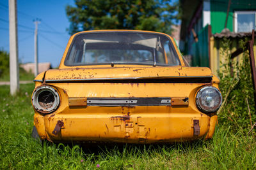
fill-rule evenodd
<path id="1" fill-rule="evenodd" d="M 34 122 L 41 139 L 116 143 L 170 143 L 212 138 L 217 122 L 217 115 L 203 113 L 157 113 L 157 108 L 153 113 L 132 113 L 124 111 L 125 107 L 122 110 L 125 113 L 77 112 L 45 116 L 35 113 Z"/>

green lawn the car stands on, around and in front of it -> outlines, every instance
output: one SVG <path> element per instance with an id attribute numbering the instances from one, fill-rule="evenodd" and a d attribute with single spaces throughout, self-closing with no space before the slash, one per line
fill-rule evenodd
<path id="1" fill-rule="evenodd" d="M 255 169 L 255 137 L 219 124 L 214 138 L 172 145 L 77 146 L 31 138 L 34 85 L 20 85 L 17 96 L 0 86 L 1 169 Z M 81 160 L 83 160 L 81 162 Z M 97 164 L 100 165 L 97 168 Z"/>

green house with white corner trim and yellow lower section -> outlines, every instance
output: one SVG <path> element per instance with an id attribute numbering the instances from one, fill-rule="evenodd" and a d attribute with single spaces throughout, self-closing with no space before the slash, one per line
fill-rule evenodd
<path id="1" fill-rule="evenodd" d="M 180 0 L 180 8 L 181 52 L 191 57 L 191 66 L 210 67 L 215 74 L 225 60 L 223 40 L 230 39 L 234 52 L 239 40 L 251 37 L 256 26 L 255 0 Z"/>

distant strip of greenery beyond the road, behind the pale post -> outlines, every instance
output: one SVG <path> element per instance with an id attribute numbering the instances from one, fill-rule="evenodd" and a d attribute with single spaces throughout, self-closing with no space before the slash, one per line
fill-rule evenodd
<path id="1" fill-rule="evenodd" d="M 33 80 L 35 78 L 35 76 L 34 76 L 33 73 L 31 73 L 31 72 L 28 73 L 24 69 L 20 68 L 19 78 L 20 78 L 20 81 L 22 81 L 22 80 Z M 1 74 L 0 81 L 10 81 L 10 72 L 9 72 L 9 70 L 7 70 L 3 74 Z"/>

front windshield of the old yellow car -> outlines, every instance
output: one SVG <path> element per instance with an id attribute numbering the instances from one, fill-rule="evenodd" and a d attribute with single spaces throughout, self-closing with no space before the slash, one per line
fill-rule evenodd
<path id="1" fill-rule="evenodd" d="M 65 59 L 66 66 L 144 64 L 177 66 L 177 53 L 162 34 L 97 32 L 78 34 Z"/>

